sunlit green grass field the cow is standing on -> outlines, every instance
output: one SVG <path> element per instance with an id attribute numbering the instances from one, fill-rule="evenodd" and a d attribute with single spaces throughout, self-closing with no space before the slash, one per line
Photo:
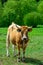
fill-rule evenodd
<path id="1" fill-rule="evenodd" d="M 17 62 L 10 46 L 10 57 L 6 56 L 7 28 L 0 28 L 0 65 L 43 65 L 43 28 L 33 28 L 29 32 L 30 41 L 26 49 L 25 62 Z"/>

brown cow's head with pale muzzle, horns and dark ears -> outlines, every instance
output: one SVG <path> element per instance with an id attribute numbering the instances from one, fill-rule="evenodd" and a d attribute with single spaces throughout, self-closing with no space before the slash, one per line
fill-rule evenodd
<path id="1" fill-rule="evenodd" d="M 28 40 L 28 32 L 32 31 L 32 27 L 28 26 L 21 26 L 17 29 L 18 32 L 21 32 L 22 34 L 22 40 L 26 41 Z"/>

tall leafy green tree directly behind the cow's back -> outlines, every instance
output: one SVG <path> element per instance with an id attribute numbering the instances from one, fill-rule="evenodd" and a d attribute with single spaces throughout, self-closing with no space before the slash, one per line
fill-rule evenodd
<path id="1" fill-rule="evenodd" d="M 19 3 L 16 1 L 8 1 L 4 6 L 2 21 L 7 23 L 7 26 L 11 24 L 12 21 L 22 25 L 22 14 Z"/>

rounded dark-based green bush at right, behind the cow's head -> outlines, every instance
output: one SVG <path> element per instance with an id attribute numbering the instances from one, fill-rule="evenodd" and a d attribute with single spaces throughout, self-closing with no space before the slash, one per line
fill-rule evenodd
<path id="1" fill-rule="evenodd" d="M 23 20 L 25 25 L 36 27 L 42 22 L 42 17 L 40 13 L 31 12 L 26 14 Z"/>

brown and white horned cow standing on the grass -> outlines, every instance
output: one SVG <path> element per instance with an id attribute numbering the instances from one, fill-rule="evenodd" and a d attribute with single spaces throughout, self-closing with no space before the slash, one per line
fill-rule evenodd
<path id="1" fill-rule="evenodd" d="M 25 60 L 25 49 L 28 42 L 28 32 L 32 30 L 32 27 L 28 26 L 12 26 L 8 28 L 7 32 L 7 40 L 6 40 L 6 48 L 7 48 L 7 56 L 9 56 L 8 48 L 10 41 L 13 44 L 13 48 L 17 46 L 18 48 L 18 61 L 20 61 L 20 48 L 23 49 L 23 60 Z"/>

